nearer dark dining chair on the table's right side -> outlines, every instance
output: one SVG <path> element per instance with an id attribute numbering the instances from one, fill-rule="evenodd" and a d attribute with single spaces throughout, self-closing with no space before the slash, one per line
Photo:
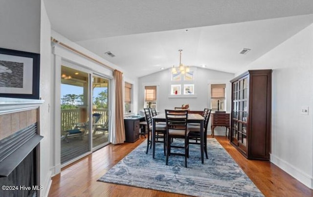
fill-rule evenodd
<path id="1" fill-rule="evenodd" d="M 208 158 L 208 156 L 207 156 L 207 126 L 209 124 L 211 111 L 212 111 L 212 109 L 207 109 L 207 108 L 205 108 L 203 110 L 203 117 L 204 117 L 204 127 L 203 127 L 203 129 L 204 129 L 204 132 L 203 132 L 204 143 L 203 143 L 203 149 L 204 149 L 204 153 L 205 153 L 206 158 Z M 188 124 L 188 130 L 190 131 L 189 135 L 188 135 L 189 144 L 199 144 L 199 145 L 201 145 L 201 143 L 200 143 L 200 141 L 201 141 L 200 140 L 200 138 L 201 138 L 200 129 L 201 129 L 200 125 Z M 193 141 L 193 140 L 195 140 L 195 141 Z M 198 142 L 198 140 L 199 140 L 199 142 Z"/>

